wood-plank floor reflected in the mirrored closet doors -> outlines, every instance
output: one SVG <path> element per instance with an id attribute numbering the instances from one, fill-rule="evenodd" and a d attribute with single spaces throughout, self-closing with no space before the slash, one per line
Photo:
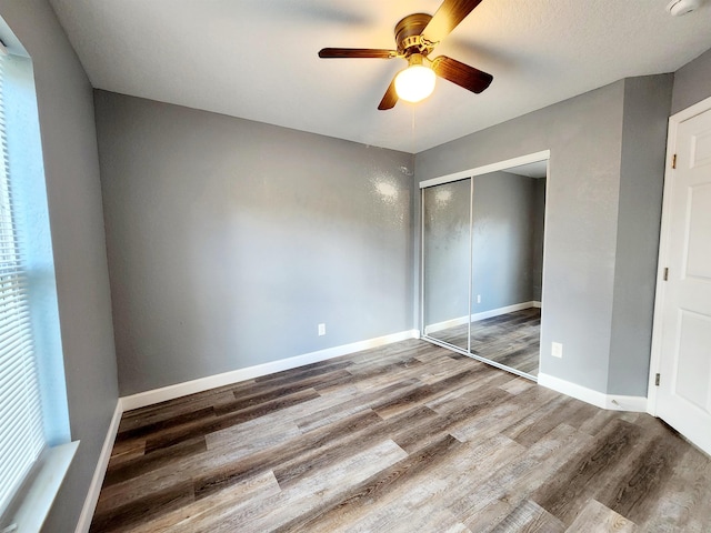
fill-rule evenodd
<path id="1" fill-rule="evenodd" d="M 467 324 L 430 336 L 467 350 Z M 471 351 L 511 369 L 537 376 L 541 351 L 541 310 L 523 309 L 471 323 Z"/>

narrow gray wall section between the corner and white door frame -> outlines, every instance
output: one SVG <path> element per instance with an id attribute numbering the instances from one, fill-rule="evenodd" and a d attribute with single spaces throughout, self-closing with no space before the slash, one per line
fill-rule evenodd
<path id="1" fill-rule="evenodd" d="M 672 74 L 624 82 L 611 394 L 647 395 Z"/>

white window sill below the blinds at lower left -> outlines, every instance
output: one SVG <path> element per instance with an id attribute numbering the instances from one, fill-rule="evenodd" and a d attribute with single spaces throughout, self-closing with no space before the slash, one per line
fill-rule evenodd
<path id="1" fill-rule="evenodd" d="M 69 442 L 50 447 L 41 459 L 42 465 L 32 480 L 22 503 L 18 507 L 12 523 L 17 529 L 9 530 L 13 533 L 36 533 L 42 529 L 42 524 L 49 514 L 49 510 L 57 497 L 59 487 L 64 481 L 69 465 L 74 459 L 79 441 Z"/>

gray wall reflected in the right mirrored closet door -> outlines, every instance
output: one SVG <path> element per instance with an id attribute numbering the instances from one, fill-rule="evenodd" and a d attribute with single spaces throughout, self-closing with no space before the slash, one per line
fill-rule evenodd
<path id="1" fill-rule="evenodd" d="M 474 178 L 472 313 L 534 300 L 537 181 L 509 172 Z"/>

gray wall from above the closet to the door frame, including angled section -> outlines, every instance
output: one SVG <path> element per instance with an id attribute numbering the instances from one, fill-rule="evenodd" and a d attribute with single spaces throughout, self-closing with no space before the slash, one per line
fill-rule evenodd
<path id="1" fill-rule="evenodd" d="M 670 82 L 622 80 L 415 158 L 415 179 L 427 180 L 551 151 L 542 373 L 605 393 L 647 391 Z M 550 355 L 552 341 L 563 359 Z"/>

